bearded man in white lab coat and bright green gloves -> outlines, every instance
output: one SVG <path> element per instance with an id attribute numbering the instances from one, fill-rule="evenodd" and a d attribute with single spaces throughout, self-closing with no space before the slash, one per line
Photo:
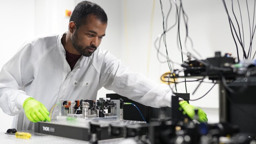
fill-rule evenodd
<path id="1" fill-rule="evenodd" d="M 33 129 L 50 121 L 49 110 L 58 100 L 96 99 L 106 89 L 152 107 L 170 107 L 171 91 L 139 73 L 133 73 L 108 51 L 100 49 L 107 15 L 88 1 L 76 5 L 68 32 L 27 41 L 0 72 L 0 107 L 15 115 L 12 127 Z M 193 118 L 194 106 L 181 107 Z M 26 116 L 25 116 L 26 115 Z M 55 109 L 53 117 L 58 115 Z M 207 121 L 199 109 L 199 120 Z"/>

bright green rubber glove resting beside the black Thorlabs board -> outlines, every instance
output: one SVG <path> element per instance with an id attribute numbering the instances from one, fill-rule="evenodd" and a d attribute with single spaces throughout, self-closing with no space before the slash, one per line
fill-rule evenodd
<path id="1" fill-rule="evenodd" d="M 46 107 L 34 98 L 27 98 L 23 103 L 24 112 L 32 122 L 51 121 L 48 116 L 50 113 Z"/>

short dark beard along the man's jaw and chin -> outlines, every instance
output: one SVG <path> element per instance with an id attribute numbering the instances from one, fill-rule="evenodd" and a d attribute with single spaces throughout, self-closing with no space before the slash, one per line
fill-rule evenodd
<path id="1" fill-rule="evenodd" d="M 78 43 L 78 38 L 77 38 L 77 32 L 75 31 L 73 36 L 71 37 L 72 45 L 74 48 L 83 56 L 85 57 L 90 57 L 92 53 L 97 49 L 96 46 L 90 45 L 90 46 L 82 46 Z M 93 52 L 89 51 L 88 49 L 94 49 Z"/>

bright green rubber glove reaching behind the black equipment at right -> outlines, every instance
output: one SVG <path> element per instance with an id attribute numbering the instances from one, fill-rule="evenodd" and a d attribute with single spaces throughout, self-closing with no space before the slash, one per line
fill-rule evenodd
<path id="1" fill-rule="evenodd" d="M 198 107 L 190 105 L 187 101 L 179 102 L 182 109 L 186 112 L 186 114 L 191 118 L 195 119 L 195 109 L 198 109 L 198 121 L 199 122 L 207 122 L 208 118 L 204 111 Z"/>

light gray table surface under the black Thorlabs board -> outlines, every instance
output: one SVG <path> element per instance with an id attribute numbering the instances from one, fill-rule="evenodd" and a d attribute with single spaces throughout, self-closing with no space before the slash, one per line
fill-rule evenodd
<path id="1" fill-rule="evenodd" d="M 43 134 L 35 134 L 34 130 L 27 130 L 27 131 L 19 131 L 19 132 L 27 132 L 31 133 L 31 138 L 30 139 L 20 139 L 20 138 L 15 138 L 14 135 L 8 135 L 4 134 L 3 132 L 0 133 L 0 143 L 1 144 L 50 144 L 50 143 L 55 143 L 55 144 L 66 144 L 66 143 L 85 143 L 89 144 L 87 141 L 82 141 L 82 140 L 76 140 L 76 139 L 69 139 L 69 138 L 63 138 L 63 137 L 57 137 L 57 136 L 50 136 L 50 135 L 43 135 Z M 129 140 L 128 140 L 129 141 Z M 103 140 L 99 141 L 99 144 L 120 144 L 120 143 L 127 143 L 127 139 L 125 140 L 124 138 L 121 139 L 112 139 L 112 140 Z M 130 141 L 129 144 L 132 142 Z"/>

